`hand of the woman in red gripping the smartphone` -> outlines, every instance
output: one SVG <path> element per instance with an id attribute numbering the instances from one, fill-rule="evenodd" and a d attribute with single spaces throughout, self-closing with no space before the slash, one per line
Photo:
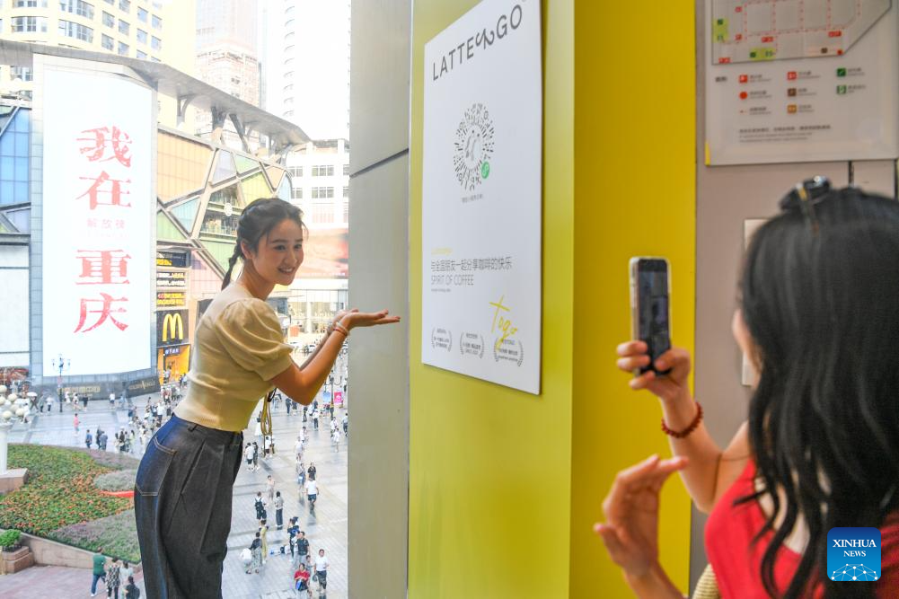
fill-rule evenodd
<path id="1" fill-rule="evenodd" d="M 643 341 L 627 341 L 620 344 L 617 351 L 619 359 L 616 364 L 619 370 L 633 372 L 649 365 L 649 347 Z M 671 371 L 664 376 L 659 376 L 654 371 L 645 371 L 630 381 L 630 388 L 647 389 L 663 401 L 690 398 L 690 352 L 681 347 L 672 347 L 656 359 L 654 366 L 659 371 Z"/>

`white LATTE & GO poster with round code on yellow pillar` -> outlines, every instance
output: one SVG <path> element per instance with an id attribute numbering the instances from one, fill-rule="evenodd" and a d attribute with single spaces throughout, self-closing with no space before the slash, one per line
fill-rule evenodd
<path id="1" fill-rule="evenodd" d="M 540 3 L 484 0 L 424 46 L 422 362 L 540 390 Z"/>

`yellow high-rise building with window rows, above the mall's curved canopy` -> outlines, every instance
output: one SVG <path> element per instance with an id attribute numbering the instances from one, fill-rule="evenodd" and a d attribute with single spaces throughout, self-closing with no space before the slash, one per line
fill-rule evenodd
<path id="1" fill-rule="evenodd" d="M 195 0 L 4 0 L 0 39 L 119 54 L 193 73 Z M 0 90 L 31 92 L 31 67 L 0 66 Z"/>

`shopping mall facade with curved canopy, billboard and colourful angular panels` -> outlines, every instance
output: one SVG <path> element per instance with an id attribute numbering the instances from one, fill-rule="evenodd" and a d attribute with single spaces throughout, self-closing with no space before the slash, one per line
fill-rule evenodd
<path id="1" fill-rule="evenodd" d="M 34 74 L 30 98 L 0 99 L 0 373 L 95 397 L 176 380 L 242 210 L 290 200 L 285 156 L 309 139 L 162 64 L 4 40 L 0 58 Z M 188 110 L 211 113 L 211 139 L 179 130 Z M 271 303 L 297 336 L 290 297 Z"/>

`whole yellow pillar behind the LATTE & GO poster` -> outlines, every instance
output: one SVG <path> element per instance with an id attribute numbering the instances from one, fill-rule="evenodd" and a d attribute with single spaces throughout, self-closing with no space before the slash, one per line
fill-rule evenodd
<path id="1" fill-rule="evenodd" d="M 523 0 L 522 0 L 523 1 Z M 693 337 L 693 4 L 543 0 L 539 397 L 421 362 L 424 44 L 474 0 L 416 0 L 410 146 L 410 597 L 625 597 L 592 523 L 614 473 L 667 451 L 628 391 L 628 258 L 672 261 Z M 664 493 L 663 563 L 686 590 L 690 507 Z"/>

